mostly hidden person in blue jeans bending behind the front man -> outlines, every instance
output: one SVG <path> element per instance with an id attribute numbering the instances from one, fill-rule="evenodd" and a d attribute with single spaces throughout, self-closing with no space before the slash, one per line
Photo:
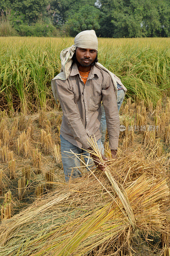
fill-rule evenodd
<path id="1" fill-rule="evenodd" d="M 121 83 L 121 81 L 119 82 Z M 122 84 L 122 83 L 121 83 Z M 117 105 L 118 105 L 118 111 L 120 110 L 121 104 L 125 98 L 125 93 L 127 92 L 126 87 L 122 84 L 118 84 L 117 83 Z M 105 142 L 105 137 L 106 137 L 106 129 L 107 129 L 107 125 L 106 125 L 106 116 L 105 116 L 105 111 L 104 111 L 104 106 L 102 105 L 102 117 L 101 117 L 101 132 L 102 132 L 102 137 L 101 137 L 101 141 L 104 145 Z"/>

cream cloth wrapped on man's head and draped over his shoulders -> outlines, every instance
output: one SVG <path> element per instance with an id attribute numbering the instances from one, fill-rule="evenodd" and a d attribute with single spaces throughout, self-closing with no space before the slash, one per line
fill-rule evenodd
<path id="1" fill-rule="evenodd" d="M 57 94 L 55 81 L 57 79 L 66 80 L 68 78 L 68 76 L 70 75 L 70 68 L 73 63 L 72 57 L 76 50 L 76 47 L 97 50 L 98 41 L 97 41 L 97 36 L 96 36 L 95 31 L 94 30 L 85 30 L 85 31 L 80 32 L 74 38 L 74 44 L 71 47 L 68 47 L 61 51 L 61 53 L 60 53 L 60 59 L 61 59 L 60 73 L 51 80 L 52 92 L 53 92 L 53 95 L 54 95 L 54 98 L 56 101 L 58 99 L 58 94 Z M 113 83 L 115 93 L 116 93 L 116 99 L 117 99 L 117 83 L 122 86 L 123 90 L 126 93 L 127 89 L 122 84 L 119 77 L 114 75 L 111 71 L 109 71 L 107 68 L 105 68 L 99 62 L 97 62 L 95 65 L 98 66 L 99 68 L 103 69 L 104 71 L 106 71 L 111 76 L 112 83 Z"/>

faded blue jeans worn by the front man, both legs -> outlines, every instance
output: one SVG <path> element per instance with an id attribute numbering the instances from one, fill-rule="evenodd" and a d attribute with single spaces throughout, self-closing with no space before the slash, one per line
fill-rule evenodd
<path id="1" fill-rule="evenodd" d="M 75 153 L 75 154 L 81 154 L 84 158 L 85 163 L 87 164 L 89 153 L 87 153 L 86 150 L 83 150 L 81 148 L 78 148 L 74 146 L 72 143 L 70 143 L 68 140 L 64 139 L 60 135 L 60 141 L 61 141 L 61 160 L 63 164 L 63 169 L 64 169 L 64 175 L 65 175 L 65 180 L 68 182 L 70 180 L 70 177 L 72 179 L 74 178 L 79 178 L 81 177 L 81 170 L 80 168 L 80 160 L 71 153 L 70 149 Z M 99 150 L 101 151 L 102 154 L 104 154 L 104 147 L 102 144 L 101 139 L 97 140 L 97 146 Z M 67 152 L 69 153 L 67 153 Z M 80 158 L 81 156 L 78 155 Z M 93 160 L 89 158 L 89 168 L 92 168 L 92 165 L 94 164 Z M 75 168 L 77 167 L 77 168 Z M 88 170 L 88 169 L 87 169 Z"/>

